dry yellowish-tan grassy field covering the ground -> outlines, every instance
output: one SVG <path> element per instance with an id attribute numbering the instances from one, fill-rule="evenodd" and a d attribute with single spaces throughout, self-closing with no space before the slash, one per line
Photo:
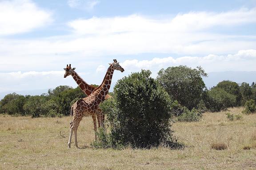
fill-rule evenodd
<path id="1" fill-rule="evenodd" d="M 183 150 L 93 149 L 92 118 L 78 128 L 77 149 L 68 149 L 70 117 L 37 118 L 0 115 L 0 169 L 24 170 L 255 170 L 256 114 L 229 121 L 225 113 L 204 113 L 196 123 L 174 123 Z M 73 138 L 72 138 L 73 139 Z M 72 140 L 73 142 L 73 140 Z M 215 150 L 212 146 L 226 146 Z"/>

